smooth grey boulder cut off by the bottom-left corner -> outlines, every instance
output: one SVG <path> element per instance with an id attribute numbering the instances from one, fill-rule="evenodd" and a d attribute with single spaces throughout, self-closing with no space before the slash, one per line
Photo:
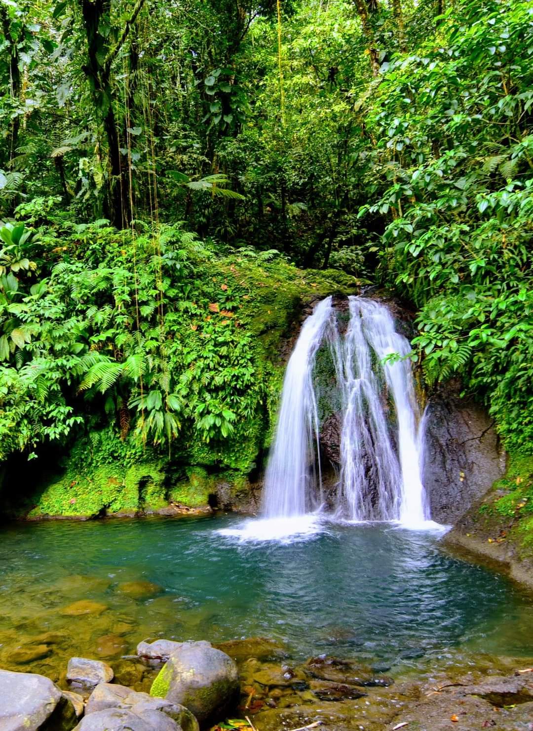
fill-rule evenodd
<path id="1" fill-rule="evenodd" d="M 0 670 L 0 731 L 37 731 L 52 716 L 58 729 L 76 722 L 72 704 L 49 678 Z"/>

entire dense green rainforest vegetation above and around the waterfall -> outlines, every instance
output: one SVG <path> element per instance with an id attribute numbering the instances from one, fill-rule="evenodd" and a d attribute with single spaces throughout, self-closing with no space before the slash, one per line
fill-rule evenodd
<path id="1" fill-rule="evenodd" d="M 531 3 L 281 10 L 0 4 L 2 459 L 248 474 L 299 303 L 354 276 L 533 452 Z"/>

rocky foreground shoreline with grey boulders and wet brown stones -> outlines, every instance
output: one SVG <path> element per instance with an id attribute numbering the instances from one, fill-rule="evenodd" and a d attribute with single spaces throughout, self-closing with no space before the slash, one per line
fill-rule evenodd
<path id="1" fill-rule="evenodd" d="M 127 659 L 145 669 L 131 686 L 85 658 L 58 683 L 0 670 L 0 731 L 533 730 L 533 668 L 513 659 L 395 680 L 355 659 L 291 664 L 261 637 L 145 640 Z"/>

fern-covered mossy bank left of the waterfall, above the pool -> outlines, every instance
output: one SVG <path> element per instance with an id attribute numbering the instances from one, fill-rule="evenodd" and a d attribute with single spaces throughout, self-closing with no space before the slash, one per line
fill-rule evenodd
<path id="1" fill-rule="evenodd" d="M 223 254 L 177 225 L 140 229 L 34 230 L 31 258 L 0 279 L 1 457 L 69 455 L 30 515 L 207 504 L 206 470 L 238 482 L 256 466 L 302 299 L 358 283 L 274 251 Z"/>

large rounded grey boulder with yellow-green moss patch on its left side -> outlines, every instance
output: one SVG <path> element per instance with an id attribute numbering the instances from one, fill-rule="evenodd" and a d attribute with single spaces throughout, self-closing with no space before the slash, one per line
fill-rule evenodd
<path id="1" fill-rule="evenodd" d="M 201 724 L 224 715 L 239 695 L 237 664 L 207 642 L 185 642 L 169 657 L 150 695 L 185 705 Z"/>

